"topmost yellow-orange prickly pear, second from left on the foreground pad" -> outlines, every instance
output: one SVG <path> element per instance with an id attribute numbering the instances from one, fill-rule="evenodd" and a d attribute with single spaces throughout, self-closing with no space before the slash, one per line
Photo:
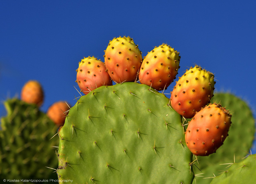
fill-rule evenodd
<path id="1" fill-rule="evenodd" d="M 107 71 L 114 82 L 135 81 L 142 55 L 132 38 L 114 38 L 109 42 L 104 58 Z"/>

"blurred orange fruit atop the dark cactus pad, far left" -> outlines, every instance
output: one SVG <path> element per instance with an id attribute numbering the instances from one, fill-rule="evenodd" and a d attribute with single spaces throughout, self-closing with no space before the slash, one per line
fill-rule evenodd
<path id="1" fill-rule="evenodd" d="M 21 100 L 40 107 L 43 104 L 44 93 L 41 84 L 36 80 L 28 81 L 21 89 Z"/>

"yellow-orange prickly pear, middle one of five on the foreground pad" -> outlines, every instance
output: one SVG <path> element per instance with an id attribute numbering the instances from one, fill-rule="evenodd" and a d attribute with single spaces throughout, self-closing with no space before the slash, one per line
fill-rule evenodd
<path id="1" fill-rule="evenodd" d="M 179 54 L 166 44 L 155 47 L 142 62 L 139 72 L 140 83 L 156 90 L 166 89 L 178 74 Z"/>

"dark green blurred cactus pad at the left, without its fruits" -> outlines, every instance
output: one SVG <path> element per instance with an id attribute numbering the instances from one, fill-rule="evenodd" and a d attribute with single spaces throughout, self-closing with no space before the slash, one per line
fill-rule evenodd
<path id="1" fill-rule="evenodd" d="M 57 136 L 50 140 L 56 134 L 55 124 L 36 105 L 16 98 L 4 105 L 7 116 L 1 118 L 0 179 L 57 179 L 49 169 L 58 164 L 52 146 L 58 146 L 59 140 Z"/>

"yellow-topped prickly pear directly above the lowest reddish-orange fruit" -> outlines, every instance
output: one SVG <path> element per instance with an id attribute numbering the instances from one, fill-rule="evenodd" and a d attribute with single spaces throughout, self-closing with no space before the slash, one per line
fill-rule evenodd
<path id="1" fill-rule="evenodd" d="M 192 118 L 201 107 L 207 105 L 214 90 L 214 75 L 195 66 L 179 77 L 171 92 L 171 106 L 185 118 Z"/>

